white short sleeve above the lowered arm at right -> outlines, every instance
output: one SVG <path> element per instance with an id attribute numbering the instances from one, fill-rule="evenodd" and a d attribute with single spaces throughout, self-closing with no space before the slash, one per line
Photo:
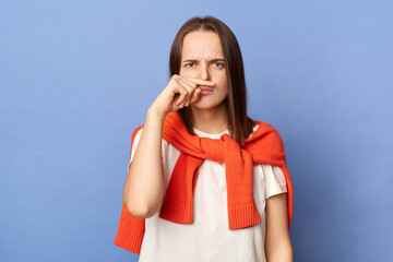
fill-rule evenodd
<path id="1" fill-rule="evenodd" d="M 265 180 L 265 199 L 287 192 L 287 182 L 279 167 L 262 165 Z"/>

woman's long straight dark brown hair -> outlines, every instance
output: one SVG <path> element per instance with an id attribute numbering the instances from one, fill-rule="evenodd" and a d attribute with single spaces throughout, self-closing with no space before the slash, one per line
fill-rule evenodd
<path id="1" fill-rule="evenodd" d="M 247 116 L 247 88 L 240 47 L 234 33 L 226 24 L 213 16 L 195 16 L 187 21 L 176 34 L 170 49 L 170 76 L 179 74 L 182 41 L 184 36 L 193 31 L 211 31 L 219 36 L 228 84 L 228 96 L 225 98 L 228 115 L 228 131 L 229 135 L 236 140 L 240 146 L 243 146 L 243 140 L 252 133 L 255 122 Z M 194 134 L 192 129 L 192 114 L 189 107 L 180 108 L 178 114 L 188 132 Z"/>

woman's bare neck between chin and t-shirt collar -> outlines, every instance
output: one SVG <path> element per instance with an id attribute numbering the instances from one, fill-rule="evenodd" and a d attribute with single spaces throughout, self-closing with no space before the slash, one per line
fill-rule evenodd
<path id="1" fill-rule="evenodd" d="M 216 108 L 200 109 L 191 106 L 190 109 L 193 127 L 202 132 L 218 134 L 229 128 L 225 103 L 222 103 Z"/>

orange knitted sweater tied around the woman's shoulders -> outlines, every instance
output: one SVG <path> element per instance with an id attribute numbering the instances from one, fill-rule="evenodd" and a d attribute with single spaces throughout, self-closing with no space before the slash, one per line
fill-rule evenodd
<path id="1" fill-rule="evenodd" d="M 283 141 L 269 123 L 255 121 L 259 128 L 245 146 L 228 134 L 219 139 L 200 138 L 190 134 L 177 111 L 167 114 L 164 120 L 163 139 L 180 151 L 167 187 L 159 217 L 178 224 L 193 222 L 193 192 L 199 167 L 204 159 L 225 163 L 227 182 L 227 209 L 229 229 L 240 229 L 261 222 L 253 200 L 253 165 L 269 164 L 281 167 L 287 182 L 288 228 L 293 216 L 293 186 L 286 166 Z M 132 133 L 131 148 L 139 126 Z M 131 152 L 130 152 L 131 159 Z M 143 218 L 132 216 L 124 203 L 115 245 L 133 253 L 140 253 L 144 236 Z"/>

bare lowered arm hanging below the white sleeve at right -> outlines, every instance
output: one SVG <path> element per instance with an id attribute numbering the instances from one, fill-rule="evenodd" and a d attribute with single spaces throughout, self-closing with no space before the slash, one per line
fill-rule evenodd
<path id="1" fill-rule="evenodd" d="M 287 193 L 266 199 L 266 239 L 267 262 L 293 262 L 287 214 Z"/>

